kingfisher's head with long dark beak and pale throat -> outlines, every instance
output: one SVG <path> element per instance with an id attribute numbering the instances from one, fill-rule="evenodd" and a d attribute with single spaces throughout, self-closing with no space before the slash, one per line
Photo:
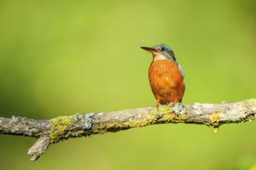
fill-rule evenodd
<path id="1" fill-rule="evenodd" d="M 153 47 L 141 46 L 140 48 L 152 53 L 154 61 L 158 59 L 171 59 L 176 61 L 175 53 L 173 53 L 172 49 L 166 44 L 157 44 Z"/>

